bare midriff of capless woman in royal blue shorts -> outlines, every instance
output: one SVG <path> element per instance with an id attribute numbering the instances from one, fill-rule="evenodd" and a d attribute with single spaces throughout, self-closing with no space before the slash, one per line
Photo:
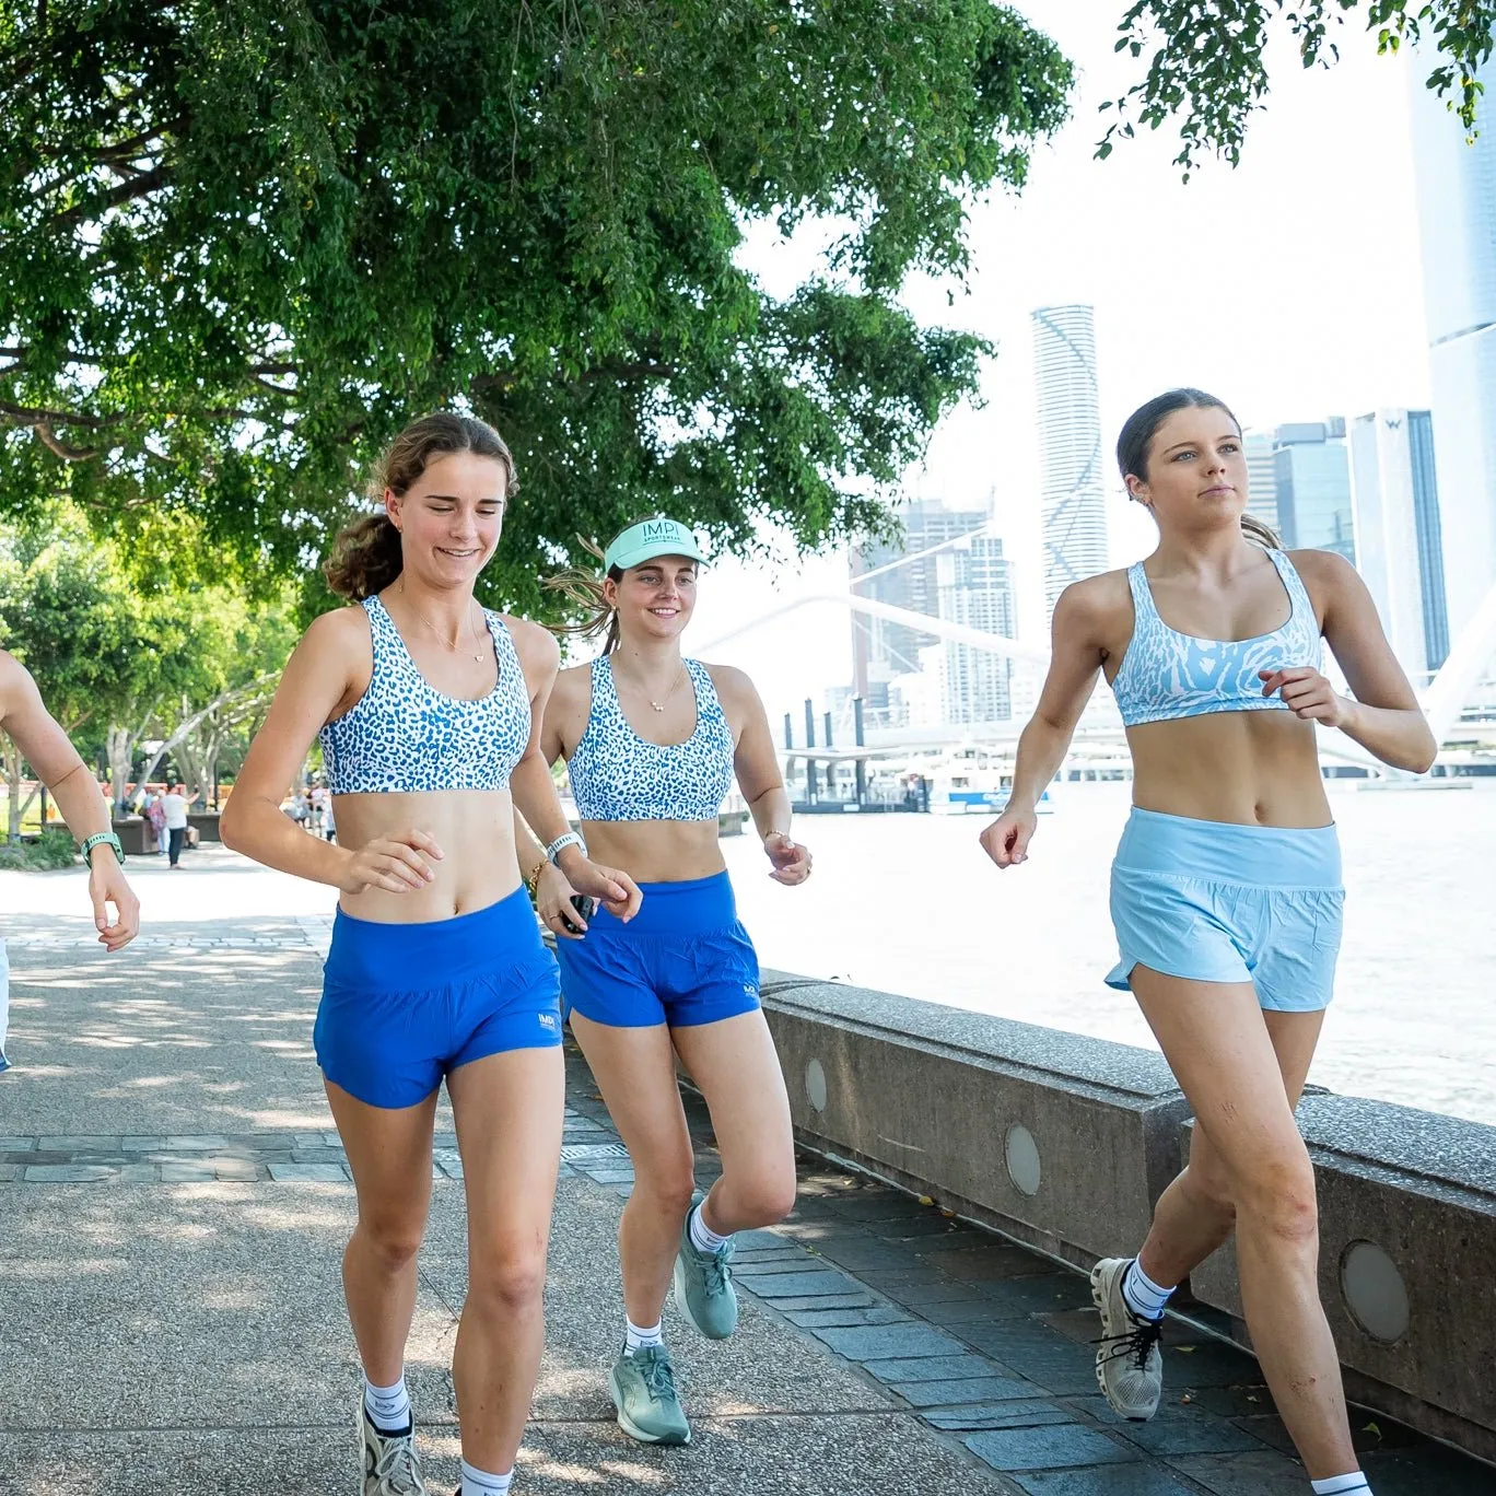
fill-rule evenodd
<path id="1" fill-rule="evenodd" d="M 338 845 L 358 851 L 381 836 L 419 830 L 443 856 L 428 857 L 435 877 L 425 889 L 344 893 L 340 908 L 378 925 L 422 925 L 486 910 L 519 887 L 509 790 L 425 790 L 416 794 L 338 794 L 332 800 Z"/>

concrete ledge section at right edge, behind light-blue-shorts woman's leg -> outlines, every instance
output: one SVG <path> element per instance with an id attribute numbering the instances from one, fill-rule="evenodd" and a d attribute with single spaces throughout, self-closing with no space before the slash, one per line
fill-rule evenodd
<path id="1" fill-rule="evenodd" d="M 1346 1393 L 1496 1462 L 1496 1128 L 1322 1095 L 1299 1129 Z M 1251 1343 L 1233 1243 L 1189 1285 Z"/>

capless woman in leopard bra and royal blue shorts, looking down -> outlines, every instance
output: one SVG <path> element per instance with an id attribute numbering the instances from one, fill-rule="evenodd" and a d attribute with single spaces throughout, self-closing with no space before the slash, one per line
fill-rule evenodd
<path id="1" fill-rule="evenodd" d="M 509 449 L 479 420 L 425 416 L 395 440 L 384 512 L 346 530 L 326 565 L 361 606 L 307 630 L 223 817 L 230 847 L 341 893 L 313 1038 L 358 1186 L 343 1282 L 365 1373 L 365 1496 L 425 1492 L 404 1346 L 443 1079 L 468 1207 L 459 1496 L 509 1490 L 530 1412 L 562 1062 L 557 969 L 519 889 L 512 805 L 577 890 L 621 920 L 639 907 L 627 877 L 565 835 L 539 751 L 555 640 L 473 597 L 512 486 Z M 337 845 L 280 811 L 314 736 Z"/>

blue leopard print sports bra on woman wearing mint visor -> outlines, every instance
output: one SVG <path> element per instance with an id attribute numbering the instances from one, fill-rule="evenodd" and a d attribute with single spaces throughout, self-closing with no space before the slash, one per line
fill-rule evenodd
<path id="1" fill-rule="evenodd" d="M 696 691 L 696 732 L 661 747 L 628 726 L 612 660 L 592 661 L 592 711 L 568 760 L 583 821 L 717 820 L 733 782 L 733 732 L 706 666 L 684 663 Z"/>

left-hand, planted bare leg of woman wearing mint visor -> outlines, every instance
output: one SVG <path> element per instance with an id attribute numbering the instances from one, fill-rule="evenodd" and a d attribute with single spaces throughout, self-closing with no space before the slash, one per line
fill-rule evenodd
<path id="1" fill-rule="evenodd" d="M 571 1032 L 634 1165 L 618 1224 L 624 1309 L 631 1324 L 657 1325 L 694 1182 L 670 1031 L 664 1023 L 615 1028 L 573 1011 Z"/>

